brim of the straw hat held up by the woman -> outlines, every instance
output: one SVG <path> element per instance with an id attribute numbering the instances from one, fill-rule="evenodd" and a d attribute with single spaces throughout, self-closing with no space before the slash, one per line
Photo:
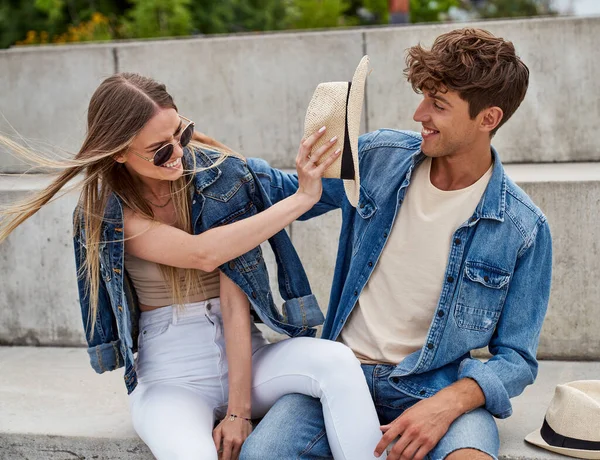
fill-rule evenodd
<path id="1" fill-rule="evenodd" d="M 358 136 L 360 134 L 360 121 L 365 96 L 365 82 L 369 72 L 369 57 L 363 56 L 354 76 L 348 97 L 348 137 L 352 150 L 352 161 L 354 162 L 354 180 L 344 180 L 344 189 L 348 201 L 354 207 L 358 205 L 360 198 L 360 170 L 358 165 Z"/>

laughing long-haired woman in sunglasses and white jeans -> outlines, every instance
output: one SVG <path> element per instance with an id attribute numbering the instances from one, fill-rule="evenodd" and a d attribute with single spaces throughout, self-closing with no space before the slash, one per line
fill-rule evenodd
<path id="1" fill-rule="evenodd" d="M 191 145 L 193 122 L 164 85 L 136 74 L 96 90 L 73 160 L 42 161 L 2 140 L 61 172 L 2 211 L 0 242 L 83 175 L 74 231 L 90 360 L 97 372 L 125 367 L 133 426 L 158 459 L 238 458 L 250 420 L 286 393 L 321 399 L 336 459 L 374 458 L 381 433 L 358 361 L 339 343 L 299 337 L 314 336 L 323 317 L 282 230 L 319 200 L 339 155 L 316 165 L 332 139 L 309 156 L 324 132 L 302 142 L 298 193 L 274 206 L 239 155 Z M 283 314 L 258 247 L 267 239 Z M 251 311 L 296 338 L 267 344 Z"/>

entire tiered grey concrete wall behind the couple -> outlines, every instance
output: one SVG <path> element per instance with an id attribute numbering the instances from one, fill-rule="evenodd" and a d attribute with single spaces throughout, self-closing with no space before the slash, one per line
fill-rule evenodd
<path id="1" fill-rule="evenodd" d="M 600 257 L 596 210 L 600 160 L 600 18 L 486 22 L 511 39 L 531 69 L 527 98 L 495 146 L 510 173 L 546 212 L 554 238 L 554 276 L 539 355 L 600 359 L 597 299 Z M 0 134 L 22 134 L 33 148 L 76 151 L 87 103 L 102 79 L 137 71 L 167 84 L 180 111 L 203 130 L 278 167 L 292 166 L 315 86 L 347 80 L 371 56 L 363 130 L 417 128 L 419 96 L 402 77 L 403 51 L 457 25 L 418 26 L 11 49 L 0 52 Z M 4 117 L 4 118 L 3 118 Z M 0 151 L 0 172 L 28 166 Z M 47 181 L 0 176 L 0 206 Z M 61 198 L 0 246 L 0 344 L 81 345 L 70 238 L 75 196 Z M 289 231 L 313 290 L 327 306 L 340 216 Z M 325 236 L 326 235 L 326 236 Z M 267 251 L 268 252 L 268 251 Z M 275 274 L 272 255 L 267 262 Z M 273 287 L 276 282 L 273 277 Z M 275 293 L 276 294 L 276 293 Z M 276 298 L 278 295 L 276 294 Z M 271 338 L 274 335 L 269 333 Z"/>

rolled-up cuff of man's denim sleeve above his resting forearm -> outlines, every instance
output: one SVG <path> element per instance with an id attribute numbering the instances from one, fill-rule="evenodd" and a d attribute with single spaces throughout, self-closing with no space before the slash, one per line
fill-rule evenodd
<path id="1" fill-rule="evenodd" d="M 458 368 L 458 378 L 477 382 L 485 395 L 485 408 L 494 417 L 507 418 L 512 414 L 512 404 L 504 384 L 485 363 L 478 359 L 465 359 Z"/>

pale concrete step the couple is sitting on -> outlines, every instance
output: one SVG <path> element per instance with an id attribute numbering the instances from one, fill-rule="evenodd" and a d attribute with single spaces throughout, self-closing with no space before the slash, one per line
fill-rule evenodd
<path id="1" fill-rule="evenodd" d="M 564 458 L 523 438 L 541 427 L 557 383 L 598 375 L 598 362 L 542 362 L 515 415 L 499 421 L 501 458 Z M 80 348 L 0 347 L 0 460 L 152 458 L 131 427 L 122 377 L 95 374 Z"/>

